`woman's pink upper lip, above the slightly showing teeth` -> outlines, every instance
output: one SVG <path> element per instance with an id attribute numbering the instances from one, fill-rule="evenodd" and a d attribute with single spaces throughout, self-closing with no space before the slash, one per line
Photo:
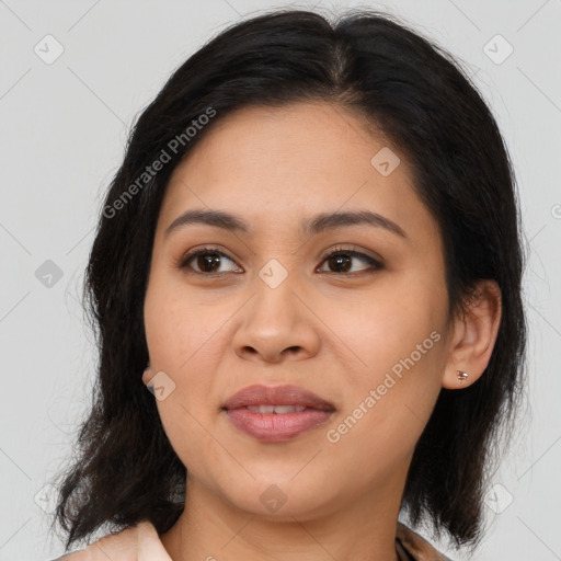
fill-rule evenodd
<path id="1" fill-rule="evenodd" d="M 224 409 L 240 409 L 248 405 L 305 405 L 324 411 L 334 411 L 329 401 L 298 386 L 248 386 L 230 396 Z"/>

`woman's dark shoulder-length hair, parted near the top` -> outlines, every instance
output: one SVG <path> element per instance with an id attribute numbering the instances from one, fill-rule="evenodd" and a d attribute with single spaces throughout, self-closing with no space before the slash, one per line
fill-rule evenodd
<path id="1" fill-rule="evenodd" d="M 443 236 L 450 313 L 462 310 L 478 279 L 501 288 L 489 366 L 466 389 L 440 391 L 402 502 L 411 524 L 427 519 L 458 547 L 479 542 L 485 474 L 513 426 L 525 375 L 522 238 L 507 149 L 459 64 L 394 16 L 360 10 L 332 24 L 318 13 L 280 10 L 232 25 L 171 76 L 137 119 L 111 183 L 84 294 L 99 376 L 75 461 L 60 474 L 56 511 L 67 551 L 104 525 L 116 530 L 148 519 L 167 531 L 183 511 L 185 467 L 141 381 L 144 298 L 161 202 L 180 160 L 221 117 L 299 101 L 362 115 L 407 156 Z M 209 108 L 215 116 L 202 119 Z M 178 138 L 183 142 L 173 144 Z M 162 150 L 170 161 L 142 175 Z"/>

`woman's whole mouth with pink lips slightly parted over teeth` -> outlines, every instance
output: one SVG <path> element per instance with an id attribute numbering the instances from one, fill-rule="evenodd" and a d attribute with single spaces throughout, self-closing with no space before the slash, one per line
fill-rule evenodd
<path id="1" fill-rule="evenodd" d="M 268 443 L 285 442 L 327 423 L 335 408 L 297 386 L 250 386 L 222 407 L 232 425 Z"/>

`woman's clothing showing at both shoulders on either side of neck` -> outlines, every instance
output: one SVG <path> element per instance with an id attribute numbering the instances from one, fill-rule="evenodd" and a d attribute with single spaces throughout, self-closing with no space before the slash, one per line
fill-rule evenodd
<path id="1" fill-rule="evenodd" d="M 396 551 L 400 561 L 451 561 L 419 534 L 398 522 Z M 148 520 L 110 534 L 88 548 L 53 561 L 172 561 Z"/>

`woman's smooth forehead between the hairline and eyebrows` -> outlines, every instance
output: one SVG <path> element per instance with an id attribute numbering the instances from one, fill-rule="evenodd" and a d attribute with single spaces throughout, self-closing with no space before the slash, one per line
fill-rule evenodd
<path id="1" fill-rule="evenodd" d="M 273 221 L 296 229 L 300 218 L 351 208 L 404 229 L 435 227 L 399 148 L 339 105 L 249 106 L 216 119 L 174 170 L 160 229 L 195 207 L 228 209 L 262 232 Z M 382 174 L 377 154 L 399 163 Z"/>

